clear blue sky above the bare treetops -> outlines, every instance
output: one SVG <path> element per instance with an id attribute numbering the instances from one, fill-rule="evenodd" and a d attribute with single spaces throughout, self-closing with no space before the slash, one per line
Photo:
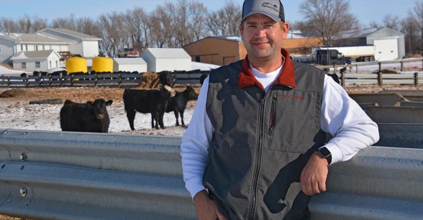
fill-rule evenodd
<path id="1" fill-rule="evenodd" d="M 146 11 L 153 10 L 157 5 L 166 1 L 177 0 L 0 0 L 0 17 L 17 19 L 28 14 L 30 17 L 38 16 L 49 21 L 57 17 L 66 17 L 71 13 L 75 17 L 97 18 L 101 14 L 111 11 L 124 12 L 135 6 Z M 218 10 L 227 0 L 198 0 L 205 4 L 209 10 Z M 242 4 L 243 0 L 233 0 Z M 285 18 L 289 22 L 302 19 L 299 5 L 304 0 L 282 0 L 285 7 Z M 382 23 L 384 15 L 392 14 L 400 18 L 408 15 L 416 0 L 349 0 L 351 13 L 357 16 L 361 24 L 368 25 L 372 20 Z M 18 3 L 17 3 L 18 2 Z"/>

